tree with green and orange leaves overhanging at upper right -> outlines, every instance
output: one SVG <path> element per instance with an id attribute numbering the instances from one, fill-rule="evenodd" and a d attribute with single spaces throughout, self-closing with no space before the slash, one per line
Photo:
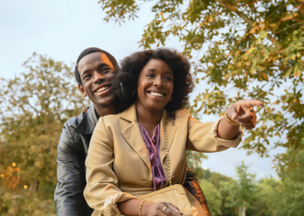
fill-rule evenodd
<path id="1" fill-rule="evenodd" d="M 99 1 L 105 20 L 119 23 L 134 19 L 144 2 Z M 295 167 L 295 155 L 304 148 L 304 1 L 156 0 L 152 12 L 140 46 L 177 37 L 183 54 L 199 57 L 192 60 L 196 82 L 210 88 L 197 95 L 192 109 L 223 115 L 236 100 L 264 101 L 257 109 L 260 123 L 247 132 L 242 148 L 268 157 L 268 148 L 284 147 L 285 153 L 275 155 L 277 168 Z"/>

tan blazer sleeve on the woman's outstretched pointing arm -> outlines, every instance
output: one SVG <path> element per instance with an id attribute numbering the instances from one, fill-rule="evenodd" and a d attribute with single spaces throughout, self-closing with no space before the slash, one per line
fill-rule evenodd
<path id="1" fill-rule="evenodd" d="M 217 128 L 222 118 L 216 122 L 202 123 L 190 116 L 188 120 L 186 150 L 209 153 L 224 151 L 230 147 L 236 148 L 242 141 L 243 129 L 240 126 L 236 137 L 232 140 L 220 138 Z"/>

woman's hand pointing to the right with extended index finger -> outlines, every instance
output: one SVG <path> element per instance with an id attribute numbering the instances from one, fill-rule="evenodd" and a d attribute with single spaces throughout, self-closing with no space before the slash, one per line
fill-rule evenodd
<path id="1" fill-rule="evenodd" d="M 232 104 L 227 109 L 227 116 L 230 120 L 239 123 L 245 129 L 252 129 L 257 123 L 257 116 L 253 109 L 254 106 L 263 106 L 262 101 L 240 100 Z"/>

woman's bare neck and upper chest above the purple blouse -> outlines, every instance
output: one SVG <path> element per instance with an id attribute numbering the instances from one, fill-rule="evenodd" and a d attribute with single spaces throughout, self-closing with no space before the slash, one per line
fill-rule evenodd
<path id="1" fill-rule="evenodd" d="M 161 111 L 151 112 L 143 106 L 136 103 L 137 121 L 146 129 L 148 134 L 152 134 L 156 125 L 161 121 L 164 109 Z"/>

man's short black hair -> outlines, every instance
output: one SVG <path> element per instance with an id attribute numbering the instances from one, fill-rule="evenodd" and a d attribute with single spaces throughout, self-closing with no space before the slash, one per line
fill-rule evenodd
<path id="1" fill-rule="evenodd" d="M 81 82 L 80 74 L 79 74 L 79 71 L 78 71 L 78 63 L 79 63 L 79 61 L 81 60 L 81 58 L 83 58 L 84 56 L 86 56 L 86 55 L 88 55 L 88 54 L 90 54 L 90 53 L 92 53 L 92 52 L 102 52 L 102 53 L 104 53 L 104 54 L 109 58 L 109 60 L 111 61 L 111 63 L 113 64 L 113 66 L 114 66 L 116 72 L 119 71 L 119 65 L 117 64 L 117 61 L 116 61 L 116 59 L 114 58 L 114 56 L 112 56 L 110 53 L 108 53 L 108 52 L 106 52 L 106 51 L 104 51 L 104 50 L 102 50 L 102 49 L 99 49 L 99 48 L 97 48 L 97 47 L 86 48 L 86 49 L 85 49 L 84 51 L 82 51 L 82 52 L 80 53 L 80 55 L 78 56 L 78 59 L 77 59 L 77 61 L 76 61 L 76 66 L 75 66 L 75 72 L 74 72 L 74 74 L 75 74 L 75 79 L 76 79 L 76 81 L 78 82 L 78 84 L 80 84 L 80 85 L 82 85 L 82 82 Z"/>

